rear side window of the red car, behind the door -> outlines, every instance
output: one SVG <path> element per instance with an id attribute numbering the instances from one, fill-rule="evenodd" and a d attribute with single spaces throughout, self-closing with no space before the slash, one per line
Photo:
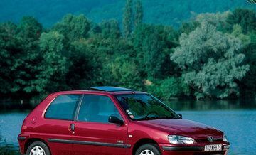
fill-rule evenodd
<path id="1" fill-rule="evenodd" d="M 45 118 L 73 120 L 81 95 L 59 95 L 50 103 Z"/>

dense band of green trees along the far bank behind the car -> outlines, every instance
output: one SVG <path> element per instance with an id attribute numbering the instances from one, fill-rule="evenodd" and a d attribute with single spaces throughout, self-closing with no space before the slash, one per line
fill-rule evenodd
<path id="1" fill-rule="evenodd" d="M 198 14 L 180 28 L 143 23 L 127 0 L 123 26 L 68 14 L 52 28 L 33 17 L 0 24 L 2 99 L 42 99 L 95 85 L 129 87 L 164 100 L 254 97 L 256 16 L 249 9 Z"/>

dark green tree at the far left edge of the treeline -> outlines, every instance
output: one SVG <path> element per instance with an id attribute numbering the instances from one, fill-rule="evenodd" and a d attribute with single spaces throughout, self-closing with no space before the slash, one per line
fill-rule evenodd
<path id="1" fill-rule="evenodd" d="M 13 23 L 2 25 L 1 35 L 3 44 L 1 47 L 2 80 L 6 86 L 4 92 L 15 92 L 15 95 L 23 97 L 32 95 L 31 80 L 36 79 L 38 63 L 41 55 L 38 48 L 38 38 L 41 35 L 42 26 L 33 17 L 23 17 L 18 26 Z M 7 85 L 7 84 L 11 85 Z"/>

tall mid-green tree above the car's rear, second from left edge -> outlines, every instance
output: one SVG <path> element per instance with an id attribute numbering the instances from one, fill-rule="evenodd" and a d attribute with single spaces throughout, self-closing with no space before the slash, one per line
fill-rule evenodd
<path id="1" fill-rule="evenodd" d="M 41 72 L 32 80 L 37 92 L 49 93 L 67 90 L 65 77 L 70 66 L 64 56 L 64 36 L 56 31 L 42 33 L 39 41 L 43 61 L 40 64 Z"/>

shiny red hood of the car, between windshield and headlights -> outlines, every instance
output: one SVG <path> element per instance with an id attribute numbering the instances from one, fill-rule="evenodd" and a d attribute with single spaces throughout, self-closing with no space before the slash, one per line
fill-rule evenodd
<path id="1" fill-rule="evenodd" d="M 187 119 L 154 119 L 141 121 L 141 123 L 170 132 L 169 134 L 183 135 L 194 139 L 207 139 L 208 136 L 215 139 L 223 137 L 223 132 L 220 130 Z"/>

